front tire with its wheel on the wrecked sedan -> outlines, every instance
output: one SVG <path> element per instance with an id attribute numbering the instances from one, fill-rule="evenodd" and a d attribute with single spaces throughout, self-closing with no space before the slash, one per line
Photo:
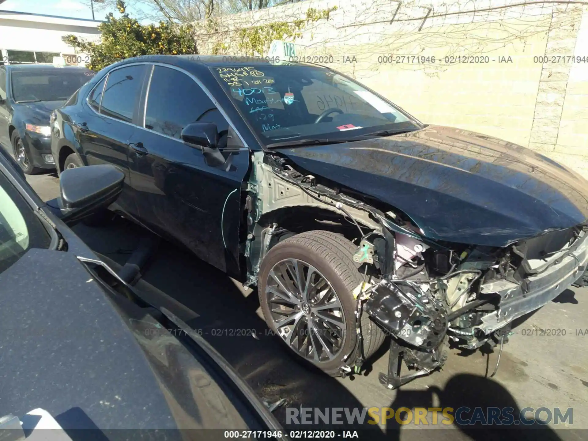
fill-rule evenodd
<path id="1" fill-rule="evenodd" d="M 352 292 L 362 282 L 363 275 L 352 260 L 356 250 L 357 247 L 342 235 L 323 230 L 309 231 L 284 239 L 275 245 L 269 250 L 259 269 L 259 303 L 269 328 L 280 336 L 280 339 L 290 350 L 331 376 L 339 376 L 342 366 L 352 367 L 360 355 L 360 351 L 356 350 L 356 300 L 353 298 Z M 278 279 L 282 282 L 282 286 L 290 289 L 290 292 L 296 290 L 298 283 L 293 282 L 292 277 L 296 265 L 302 269 L 303 280 L 300 285 L 305 286 L 311 270 L 303 268 L 312 266 L 314 270 L 311 273 L 311 282 L 319 286 L 319 289 L 315 290 L 316 296 L 320 296 L 316 294 L 318 292 L 324 293 L 322 299 L 317 297 L 315 303 L 312 303 L 310 295 L 305 299 L 304 295 L 298 292 L 296 300 L 293 300 L 293 297 L 280 287 Z M 270 272 L 272 276 L 270 276 Z M 283 276 L 284 274 L 286 276 Z M 324 283 L 320 281 L 320 278 L 324 279 Z M 282 295 L 278 295 L 276 292 Z M 312 290 L 309 292 L 312 293 Z M 329 299 L 326 299 L 327 297 Z M 339 303 L 333 300 L 335 297 Z M 308 302 L 302 301 L 296 304 L 295 302 L 300 299 L 308 300 Z M 340 305 L 340 307 L 325 308 L 325 303 Z M 326 315 L 324 311 L 328 311 L 327 316 L 330 320 L 322 320 Z M 290 319 L 286 319 L 276 324 L 276 320 L 282 319 L 285 317 L 284 315 L 299 317 L 299 319 L 292 319 L 292 323 L 290 323 Z M 344 320 L 341 320 L 341 317 Z M 314 333 L 309 328 L 308 323 L 311 318 L 313 318 L 312 327 L 319 330 L 318 333 Z M 333 325 L 331 323 L 333 319 L 339 324 Z M 330 345 L 330 353 L 325 348 L 329 347 L 333 335 L 330 334 L 329 328 L 319 325 L 338 328 L 335 335 L 341 336 L 341 338 L 336 338 L 335 343 Z M 292 331 L 294 326 L 297 326 L 298 333 Z M 385 333 L 365 312 L 362 312 L 361 315 L 360 329 L 363 339 L 363 355 L 367 359 L 382 345 Z M 322 335 L 323 342 L 326 342 L 327 345 L 317 340 L 317 335 Z M 311 336 L 312 338 L 310 338 Z M 322 346 L 321 353 L 311 349 L 312 346 Z M 346 356 L 348 358 L 344 360 Z"/>

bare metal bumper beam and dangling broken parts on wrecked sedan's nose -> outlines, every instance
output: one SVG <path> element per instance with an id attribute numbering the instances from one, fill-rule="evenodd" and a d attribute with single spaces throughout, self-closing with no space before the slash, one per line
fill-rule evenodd
<path id="1" fill-rule="evenodd" d="M 549 262 L 520 283 L 512 278 L 485 283 L 480 278 L 477 294 L 466 289 L 470 300 L 456 308 L 444 301 L 432 279 L 390 277 L 372 286 L 365 312 L 392 335 L 388 371 L 380 373 L 380 383 L 396 389 L 442 368 L 450 338 L 469 349 L 499 342 L 502 350 L 513 320 L 541 308 L 574 282 L 588 285 L 588 231 Z M 403 362 L 410 370 L 405 375 Z"/>

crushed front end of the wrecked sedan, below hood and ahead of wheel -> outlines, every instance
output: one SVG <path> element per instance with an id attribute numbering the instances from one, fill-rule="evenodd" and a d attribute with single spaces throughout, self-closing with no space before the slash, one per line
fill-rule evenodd
<path id="1" fill-rule="evenodd" d="M 413 233 L 386 229 L 364 240 L 355 256 L 359 261 L 373 247 L 381 273 L 360 301 L 393 336 L 388 372 L 380 373 L 390 389 L 442 367 L 449 344 L 476 349 L 500 343 L 502 350 L 512 321 L 583 280 L 588 262 L 585 225 L 505 248 L 437 243 Z"/>

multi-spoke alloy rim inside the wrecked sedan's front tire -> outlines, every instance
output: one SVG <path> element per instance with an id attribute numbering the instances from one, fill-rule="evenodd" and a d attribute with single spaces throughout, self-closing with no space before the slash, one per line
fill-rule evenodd
<path id="1" fill-rule="evenodd" d="M 343 307 L 329 281 L 309 263 L 285 259 L 270 270 L 265 286 L 270 320 L 294 352 L 329 362 L 346 340 Z"/>

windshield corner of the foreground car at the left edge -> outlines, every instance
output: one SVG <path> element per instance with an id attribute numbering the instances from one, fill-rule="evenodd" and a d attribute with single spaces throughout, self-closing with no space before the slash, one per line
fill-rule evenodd
<path id="1" fill-rule="evenodd" d="M 31 248 L 49 248 L 51 237 L 32 208 L 0 173 L 0 273 Z"/>

